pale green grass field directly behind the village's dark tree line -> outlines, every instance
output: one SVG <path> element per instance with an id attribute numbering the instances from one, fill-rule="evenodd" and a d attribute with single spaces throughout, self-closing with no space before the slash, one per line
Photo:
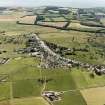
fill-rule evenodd
<path id="1" fill-rule="evenodd" d="M 40 37 L 61 46 L 73 47 L 76 46 L 76 42 L 83 44 L 86 43 L 86 39 L 89 37 L 89 35 L 89 33 L 86 34 L 85 32 L 61 31 L 56 33 L 40 34 Z M 74 42 L 72 42 L 73 37 L 75 39 Z"/>

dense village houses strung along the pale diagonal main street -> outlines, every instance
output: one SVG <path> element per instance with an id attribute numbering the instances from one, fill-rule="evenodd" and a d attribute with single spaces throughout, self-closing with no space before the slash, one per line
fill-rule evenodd
<path id="1" fill-rule="evenodd" d="M 33 52 L 30 52 L 30 55 L 40 57 L 41 63 L 40 67 L 42 68 L 72 68 L 72 67 L 82 67 L 88 71 L 95 72 L 97 75 L 105 74 L 104 65 L 91 65 L 88 63 L 83 63 L 80 61 L 68 59 L 62 57 L 60 54 L 54 52 L 52 49 L 55 45 L 44 42 L 39 38 L 37 34 L 32 34 L 31 39 L 29 39 L 29 48 L 33 49 Z M 53 47 L 52 47 L 53 46 Z M 52 48 L 51 48 L 52 47 Z M 57 46 L 55 46 L 57 47 Z M 66 48 L 64 48 L 66 49 Z"/>

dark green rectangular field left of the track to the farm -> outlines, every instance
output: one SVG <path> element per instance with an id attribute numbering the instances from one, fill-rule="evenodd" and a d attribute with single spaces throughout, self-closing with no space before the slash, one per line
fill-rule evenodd
<path id="1" fill-rule="evenodd" d="M 41 84 L 37 80 L 20 80 L 13 82 L 13 97 L 40 96 Z"/>

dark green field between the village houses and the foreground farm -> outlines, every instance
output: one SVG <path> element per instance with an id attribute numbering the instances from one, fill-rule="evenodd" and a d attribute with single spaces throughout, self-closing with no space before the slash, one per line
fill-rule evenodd
<path id="1" fill-rule="evenodd" d="M 46 77 L 46 79 L 52 79 L 49 81 L 46 86 L 46 90 L 70 90 L 75 88 L 75 83 L 72 80 L 70 75 L 70 71 L 64 70 L 44 70 L 42 71 L 42 75 Z M 60 82 L 62 81 L 62 83 Z"/>

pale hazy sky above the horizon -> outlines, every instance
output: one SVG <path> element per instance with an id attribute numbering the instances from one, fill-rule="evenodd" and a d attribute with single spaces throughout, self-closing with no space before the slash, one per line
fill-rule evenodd
<path id="1" fill-rule="evenodd" d="M 105 0 L 0 0 L 0 6 L 64 6 L 76 8 L 105 7 Z"/>

